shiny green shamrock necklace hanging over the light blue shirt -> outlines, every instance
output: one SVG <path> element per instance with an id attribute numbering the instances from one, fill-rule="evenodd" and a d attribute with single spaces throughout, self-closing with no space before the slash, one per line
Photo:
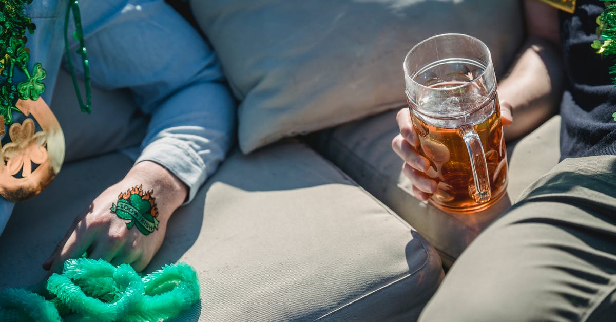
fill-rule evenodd
<path id="1" fill-rule="evenodd" d="M 41 66 L 41 63 L 36 62 L 32 70 L 28 70 L 28 62 L 30 61 L 30 49 L 26 47 L 28 38 L 26 31 L 32 35 L 36 26 L 32 19 L 26 17 L 23 13 L 25 6 L 31 4 L 33 0 L 3 0 L 0 3 L 0 117 L 4 118 L 6 125 L 13 123 L 12 112 L 21 112 L 15 104 L 18 99 L 32 99 L 36 101 L 45 91 L 43 80 L 46 72 Z M 79 49 L 77 53 L 83 60 L 84 81 L 86 90 L 86 102 L 83 102 L 73 62 L 71 61 L 70 51 L 68 48 L 68 22 L 70 13 L 73 12 L 75 20 L 75 32 L 73 37 L 79 41 Z M 64 22 L 64 41 L 67 51 L 68 67 L 71 76 L 73 77 L 73 86 L 79 101 L 79 106 L 83 112 L 91 112 L 92 97 L 90 89 L 90 70 L 89 62 L 86 56 L 86 47 L 83 39 L 83 29 L 81 28 L 81 15 L 79 14 L 79 2 L 71 0 L 67 6 L 67 14 Z M 26 80 L 15 85 L 14 70 L 22 72 L 26 76 Z"/>

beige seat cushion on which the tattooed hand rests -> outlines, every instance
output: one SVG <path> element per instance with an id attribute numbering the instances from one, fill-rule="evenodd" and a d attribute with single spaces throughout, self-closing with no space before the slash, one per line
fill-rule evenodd
<path id="1" fill-rule="evenodd" d="M 69 163 L 18 204 L 0 236 L 0 289 L 43 279 L 73 218 L 131 164 L 121 154 Z M 299 142 L 233 152 L 173 215 L 145 271 L 177 261 L 201 283 L 179 321 L 414 320 L 443 275 L 413 228 Z"/>

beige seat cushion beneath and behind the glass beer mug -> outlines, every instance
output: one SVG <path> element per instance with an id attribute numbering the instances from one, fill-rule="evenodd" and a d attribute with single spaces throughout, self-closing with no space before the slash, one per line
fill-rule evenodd
<path id="1" fill-rule="evenodd" d="M 396 113 L 394 110 L 322 131 L 313 139 L 327 159 L 426 237 L 439 250 L 445 266 L 450 266 L 528 184 L 559 160 L 560 117 L 556 116 L 519 142 L 508 144 L 508 189 L 497 204 L 471 214 L 443 212 L 411 193 L 411 183 L 402 174 L 403 162 L 391 148 L 391 140 L 399 133 Z"/>

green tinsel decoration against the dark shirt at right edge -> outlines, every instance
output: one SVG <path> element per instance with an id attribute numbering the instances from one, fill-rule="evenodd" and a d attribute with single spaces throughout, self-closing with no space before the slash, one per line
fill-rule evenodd
<path id="1" fill-rule="evenodd" d="M 606 9 L 597 17 L 597 38 L 599 39 L 593 41 L 591 46 L 597 49 L 597 54 L 609 57 L 616 54 L 616 4 L 612 1 L 601 1 L 605 2 Z M 609 73 L 616 74 L 616 62 L 609 68 Z M 616 85 L 616 77 L 612 77 L 612 83 Z M 616 112 L 612 114 L 612 117 L 616 121 Z"/>

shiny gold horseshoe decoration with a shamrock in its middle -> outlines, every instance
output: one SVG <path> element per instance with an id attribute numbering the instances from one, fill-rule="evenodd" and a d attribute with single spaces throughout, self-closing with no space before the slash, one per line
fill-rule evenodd
<path id="1" fill-rule="evenodd" d="M 36 196 L 54 180 L 64 161 L 65 145 L 60 123 L 42 98 L 19 99 L 15 106 L 41 126 L 36 132 L 31 118 L 13 123 L 9 128 L 12 142 L 0 143 L 0 195 L 22 201 Z M 38 165 L 34 171 L 32 163 Z M 16 176 L 20 172 L 21 177 Z"/>

